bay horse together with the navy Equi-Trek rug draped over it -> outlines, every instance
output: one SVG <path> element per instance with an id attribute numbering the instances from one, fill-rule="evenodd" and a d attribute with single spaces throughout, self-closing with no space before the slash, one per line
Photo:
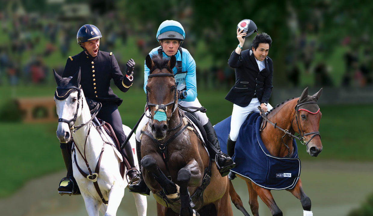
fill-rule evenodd
<path id="1" fill-rule="evenodd" d="M 295 139 L 299 139 L 306 146 L 307 153 L 313 157 L 322 151 L 319 132 L 322 114 L 317 104 L 321 94 L 322 88 L 309 96 L 308 88 L 305 88 L 299 98 L 278 104 L 267 115 L 263 114 L 263 110 L 260 114 L 252 113 L 242 125 L 233 156 L 237 167 L 232 172 L 246 181 L 254 216 L 259 214 L 257 196 L 266 203 L 272 215 L 282 215 L 270 190 L 288 190 L 300 199 L 307 216 L 312 214 L 311 200 L 302 188 Z M 225 134 L 221 136 L 226 130 L 221 124 L 224 121 L 215 127 L 219 139 L 226 137 Z M 233 186 L 231 197 L 236 207 L 243 207 Z"/>

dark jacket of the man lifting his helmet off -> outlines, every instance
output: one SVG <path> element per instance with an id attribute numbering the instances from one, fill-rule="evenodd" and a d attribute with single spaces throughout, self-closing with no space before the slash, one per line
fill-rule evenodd
<path id="1" fill-rule="evenodd" d="M 248 106 L 256 94 L 260 103 L 268 103 L 272 93 L 273 62 L 266 57 L 266 68 L 259 71 L 253 51 L 247 49 L 241 55 L 232 52 L 228 65 L 235 68 L 236 83 L 225 97 L 232 103 L 245 107 Z"/>

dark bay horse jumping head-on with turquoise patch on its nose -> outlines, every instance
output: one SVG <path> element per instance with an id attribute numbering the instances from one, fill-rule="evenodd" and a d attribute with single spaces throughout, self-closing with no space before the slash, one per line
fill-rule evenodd
<path id="1" fill-rule="evenodd" d="M 232 216 L 228 177 L 222 177 L 178 106 L 176 58 L 147 55 L 149 122 L 141 130 L 144 181 L 158 216 Z M 145 112 L 146 113 L 146 112 Z"/>

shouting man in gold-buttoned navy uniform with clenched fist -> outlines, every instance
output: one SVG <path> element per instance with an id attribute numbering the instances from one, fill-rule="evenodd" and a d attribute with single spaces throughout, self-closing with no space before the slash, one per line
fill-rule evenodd
<path id="1" fill-rule="evenodd" d="M 85 97 L 102 103 L 97 117 L 112 126 L 119 144 L 122 146 L 126 135 L 123 132 L 122 119 L 118 111 L 118 106 L 123 100 L 113 93 L 113 90 L 110 88 L 110 80 L 114 80 L 119 90 L 123 92 L 128 91 L 129 87 L 132 86 L 132 74 L 135 62 L 133 59 L 127 62 L 126 74 L 123 75 L 114 54 L 112 52 L 99 51 L 101 37 L 100 30 L 94 25 L 84 25 L 79 29 L 76 38 L 83 51 L 67 59 L 62 77 L 73 76 L 80 68 L 80 84 Z M 72 167 L 69 167 L 69 164 L 71 164 L 72 143 L 61 143 L 60 146 L 66 169 L 68 170 L 68 178 L 75 181 L 72 176 Z M 127 156 L 128 162 L 131 165 L 131 168 L 127 172 L 129 179 L 131 181 L 138 180 L 138 171 L 135 168 L 131 145 L 126 144 L 122 152 Z M 73 188 L 73 185 L 75 188 Z M 67 186 L 59 186 L 58 191 L 74 194 L 78 191 L 78 188 L 76 183 L 72 184 L 70 181 Z"/>

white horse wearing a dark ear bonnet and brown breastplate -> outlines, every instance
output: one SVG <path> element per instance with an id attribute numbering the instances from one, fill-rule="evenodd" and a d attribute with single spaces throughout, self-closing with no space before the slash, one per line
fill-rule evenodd
<path id="1" fill-rule="evenodd" d="M 99 210 L 105 216 L 116 215 L 119 204 L 124 196 L 125 187 L 128 186 L 127 181 L 122 178 L 119 170 L 120 162 L 123 161 L 122 155 L 115 148 L 111 137 L 109 137 L 106 132 L 101 136 L 98 130 L 92 125 L 90 110 L 85 100 L 83 90 L 79 85 L 80 69 L 72 78 L 62 78 L 56 71 L 53 70 L 53 72 L 58 86 L 57 90 L 60 89 L 64 93 L 64 96 L 58 96 L 58 100 L 54 97 L 57 115 L 59 117 L 56 132 L 57 138 L 60 142 L 64 143 L 69 142 L 70 139 L 73 138 L 75 142 L 74 152 L 72 153 L 73 176 L 79 186 L 88 215 L 98 216 Z M 76 126 L 81 127 L 76 130 Z M 123 130 L 125 134 L 129 134 L 131 131 L 131 129 L 125 125 L 123 125 Z M 105 142 L 104 138 L 107 139 L 105 141 L 110 141 L 111 144 Z M 132 148 L 135 148 L 134 136 L 130 139 L 130 143 Z M 93 175 L 95 175 L 95 167 L 103 148 L 104 151 L 101 156 L 100 170 L 97 177 L 84 177 L 79 172 L 77 164 L 85 174 L 89 175 L 93 173 Z M 77 149 L 81 151 L 81 154 Z M 74 160 L 74 154 L 76 160 Z M 87 168 L 82 155 L 85 155 L 90 169 Z M 134 161 L 138 169 L 136 154 L 134 154 Z M 102 198 L 108 202 L 107 204 L 103 203 L 98 191 L 95 189 L 95 180 L 97 180 Z M 146 197 L 137 193 L 132 193 L 132 195 L 135 198 L 138 215 L 145 216 L 147 210 Z"/>

